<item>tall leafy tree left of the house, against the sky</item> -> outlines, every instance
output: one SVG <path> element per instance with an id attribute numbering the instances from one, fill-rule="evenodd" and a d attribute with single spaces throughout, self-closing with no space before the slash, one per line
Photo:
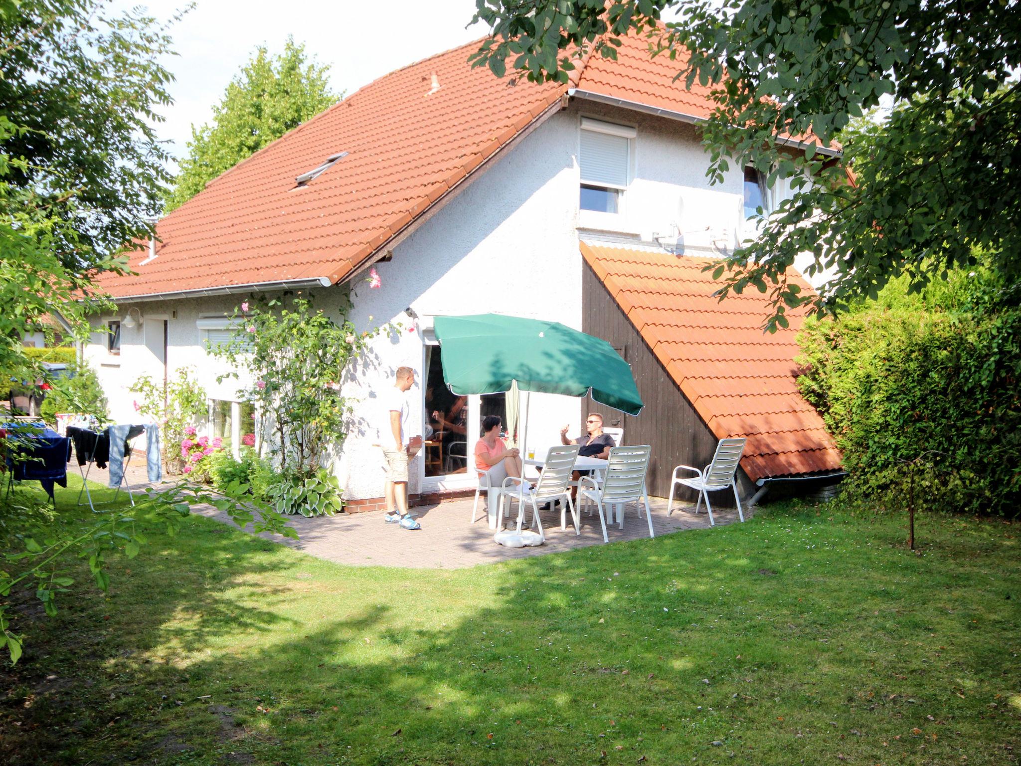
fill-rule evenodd
<path id="1" fill-rule="evenodd" d="M 105 5 L 0 0 L 0 369 L 25 379 L 39 372 L 25 332 L 55 309 L 88 331 L 106 305 L 92 277 L 124 268 L 168 180 L 155 134 L 167 27 Z"/>

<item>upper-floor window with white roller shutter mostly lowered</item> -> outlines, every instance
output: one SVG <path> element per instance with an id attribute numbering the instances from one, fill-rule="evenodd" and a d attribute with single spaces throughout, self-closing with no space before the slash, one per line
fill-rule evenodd
<path id="1" fill-rule="evenodd" d="M 581 118 L 578 165 L 581 170 L 579 207 L 582 210 L 621 211 L 625 189 L 631 182 L 634 128 Z"/>

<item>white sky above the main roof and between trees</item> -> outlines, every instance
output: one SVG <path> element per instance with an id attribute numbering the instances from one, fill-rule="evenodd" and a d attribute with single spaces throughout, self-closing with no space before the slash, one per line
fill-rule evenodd
<path id="1" fill-rule="evenodd" d="M 141 4 L 166 19 L 186 2 L 113 0 L 112 8 Z M 292 35 L 331 65 L 333 90 L 350 95 L 388 71 L 485 35 L 482 25 L 466 29 L 474 12 L 474 0 L 196 0 L 173 30 L 180 55 L 165 65 L 177 78 L 175 103 L 165 110 L 160 138 L 183 155 L 192 124 L 211 118 L 212 105 L 257 45 L 278 53 Z"/>

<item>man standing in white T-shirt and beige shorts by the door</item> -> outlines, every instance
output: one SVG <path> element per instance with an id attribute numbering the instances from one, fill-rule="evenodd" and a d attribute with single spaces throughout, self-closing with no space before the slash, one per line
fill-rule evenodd
<path id="1" fill-rule="evenodd" d="M 407 392 L 414 385 L 415 370 L 398 367 L 393 386 L 380 394 L 379 437 L 386 468 L 386 514 L 383 519 L 388 524 L 400 524 L 404 529 L 422 529 L 407 513 L 407 463 L 422 447 L 421 436 L 405 441 L 407 418 L 411 412 Z M 394 513 L 394 501 L 397 513 Z"/>

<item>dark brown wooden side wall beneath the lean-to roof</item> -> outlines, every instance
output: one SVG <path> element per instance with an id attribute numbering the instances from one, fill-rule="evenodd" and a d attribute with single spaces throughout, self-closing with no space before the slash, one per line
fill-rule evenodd
<path id="1" fill-rule="evenodd" d="M 651 445 L 648 491 L 666 497 L 674 467 L 703 468 L 713 460 L 718 439 L 591 267 L 585 264 L 582 270 L 582 331 L 606 340 L 631 365 L 645 408 L 639 415 L 631 416 L 593 401 L 586 403 L 602 415 L 605 425 L 624 429 L 626 444 Z M 737 475 L 743 499 L 755 491 L 755 484 L 743 470 L 738 469 Z M 677 497 L 694 502 L 695 492 L 683 489 Z M 714 492 L 710 500 L 714 506 L 734 506 L 731 492 Z"/>

